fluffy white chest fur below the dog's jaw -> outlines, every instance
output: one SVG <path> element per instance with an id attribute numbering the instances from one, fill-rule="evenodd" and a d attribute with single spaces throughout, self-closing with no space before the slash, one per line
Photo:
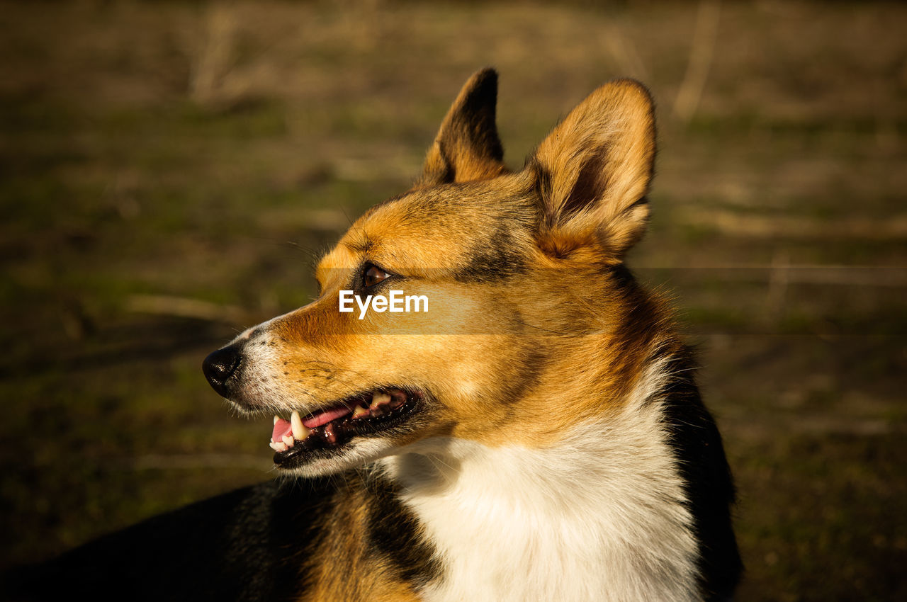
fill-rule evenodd
<path id="1" fill-rule="evenodd" d="M 697 543 L 658 403 L 554 448 L 429 440 L 387 459 L 440 554 L 426 600 L 695 600 Z"/>

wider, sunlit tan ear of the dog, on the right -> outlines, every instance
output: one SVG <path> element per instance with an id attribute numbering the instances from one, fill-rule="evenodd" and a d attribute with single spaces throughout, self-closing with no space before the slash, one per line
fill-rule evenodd
<path id="1" fill-rule="evenodd" d="M 617 80 L 592 92 L 527 162 L 541 196 L 541 247 L 565 255 L 596 243 L 621 261 L 648 225 L 654 161 L 649 91 Z"/>

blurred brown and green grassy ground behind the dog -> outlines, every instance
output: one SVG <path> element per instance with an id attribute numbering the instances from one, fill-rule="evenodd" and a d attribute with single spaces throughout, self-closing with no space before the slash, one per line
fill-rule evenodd
<path id="1" fill-rule="evenodd" d="M 0 568 L 271 478 L 202 358 L 307 303 L 484 65 L 514 168 L 658 101 L 649 236 L 725 436 L 739 600 L 907 599 L 907 6 L 0 6 Z"/>

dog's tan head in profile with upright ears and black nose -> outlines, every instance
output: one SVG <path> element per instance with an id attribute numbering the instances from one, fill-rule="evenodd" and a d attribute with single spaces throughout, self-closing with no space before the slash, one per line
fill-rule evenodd
<path id="1" fill-rule="evenodd" d="M 496 95 L 492 70 L 465 84 L 414 187 L 321 259 L 315 301 L 205 360 L 241 410 L 290 418 L 278 468 L 339 471 L 433 437 L 543 445 L 639 374 L 660 318 L 622 259 L 649 218 L 649 93 L 603 85 L 517 172 Z"/>

